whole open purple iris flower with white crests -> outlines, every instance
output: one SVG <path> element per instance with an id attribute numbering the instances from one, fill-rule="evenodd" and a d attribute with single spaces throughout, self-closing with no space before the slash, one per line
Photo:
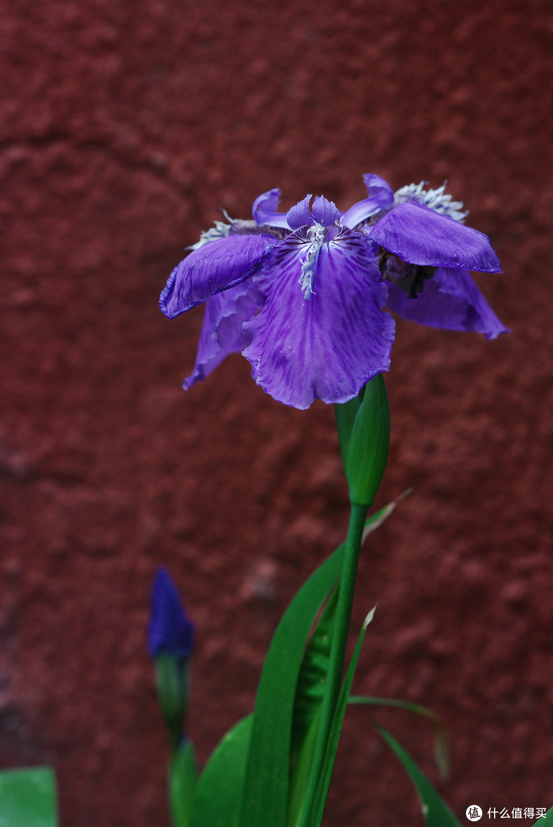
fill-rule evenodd
<path id="1" fill-rule="evenodd" d="M 396 193 L 366 175 L 368 198 L 340 213 L 323 196 L 278 212 L 280 190 L 253 221 L 215 222 L 173 270 L 160 297 L 168 318 L 206 302 L 196 366 L 184 387 L 242 351 L 275 399 L 308 408 L 346 402 L 388 370 L 404 318 L 496 337 L 499 322 L 468 270 L 500 272 L 483 233 L 461 222 L 444 187 Z"/>

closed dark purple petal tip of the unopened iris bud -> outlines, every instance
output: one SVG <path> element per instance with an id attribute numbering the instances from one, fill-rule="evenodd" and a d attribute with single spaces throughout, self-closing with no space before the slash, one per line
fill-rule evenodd
<path id="1" fill-rule="evenodd" d="M 160 566 L 154 579 L 148 629 L 150 657 L 161 654 L 186 660 L 194 645 L 194 624 L 185 612 L 177 586 Z"/>

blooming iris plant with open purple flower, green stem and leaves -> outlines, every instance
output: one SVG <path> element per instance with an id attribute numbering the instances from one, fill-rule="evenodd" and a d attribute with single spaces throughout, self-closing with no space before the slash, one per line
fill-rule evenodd
<path id="1" fill-rule="evenodd" d="M 228 223 L 202 233 L 161 294 L 168 318 L 206 302 L 186 388 L 242 351 L 253 379 L 275 399 L 300 409 L 314 399 L 335 404 L 351 504 L 345 542 L 310 576 L 276 629 L 253 714 L 225 735 L 199 777 L 193 762 L 173 771 L 173 788 L 187 791 L 172 797 L 175 827 L 320 827 L 348 703 L 400 706 L 436 722 L 419 705 L 351 696 L 372 612 L 344 673 L 363 539 L 393 508 L 367 518 L 390 444 L 382 371 L 395 323 L 384 308 L 497 337 L 506 328 L 468 271 L 498 273 L 500 265 L 488 237 L 463 224 L 462 203 L 443 186 L 410 184 L 394 193 L 373 174 L 365 184 L 367 198 L 345 213 L 322 195 L 279 213 L 280 190 L 263 193 L 253 219 L 227 216 Z M 460 827 L 409 755 L 380 732 L 432 824 Z"/>

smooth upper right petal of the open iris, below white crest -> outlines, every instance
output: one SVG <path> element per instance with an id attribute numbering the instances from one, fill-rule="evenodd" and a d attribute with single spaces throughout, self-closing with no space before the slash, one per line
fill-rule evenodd
<path id="1" fill-rule="evenodd" d="M 501 272 L 483 232 L 413 201 L 390 210 L 367 234 L 410 264 Z"/>

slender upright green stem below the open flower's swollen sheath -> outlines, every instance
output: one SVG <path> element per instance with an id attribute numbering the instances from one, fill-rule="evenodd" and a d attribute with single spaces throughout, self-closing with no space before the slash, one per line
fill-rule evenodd
<path id="1" fill-rule="evenodd" d="M 311 763 L 310 769 L 310 780 L 305 791 L 305 805 L 301 814 L 299 827 L 305 827 L 310 818 L 311 805 L 323 767 L 328 734 L 332 725 L 334 710 L 342 683 L 343 662 L 346 654 L 347 633 L 352 615 L 357 563 L 359 561 L 363 528 L 365 526 L 366 512 L 368 509 L 368 505 L 352 503 L 338 590 L 338 606 L 336 607 L 332 646 L 330 648 L 330 658 L 328 661 L 327 686 L 321 707 L 319 732 L 315 743 L 313 762 Z"/>

